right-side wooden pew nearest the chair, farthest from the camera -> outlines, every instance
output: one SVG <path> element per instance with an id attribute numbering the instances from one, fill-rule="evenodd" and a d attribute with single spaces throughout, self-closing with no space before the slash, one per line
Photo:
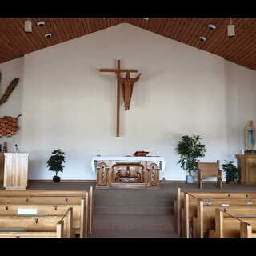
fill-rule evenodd
<path id="1" fill-rule="evenodd" d="M 186 218 L 186 210 L 184 206 L 184 197 L 186 192 L 182 192 L 180 188 L 178 188 L 176 194 L 176 200 L 174 201 L 174 226 L 176 232 L 182 236 L 183 238 L 190 237 L 188 224 L 184 223 L 184 218 Z M 228 202 L 229 198 L 244 198 L 248 199 L 248 202 L 252 199 L 256 199 L 255 192 L 202 192 L 202 191 L 195 191 L 190 192 L 190 197 L 194 198 L 202 198 L 204 200 L 209 200 L 210 198 L 226 198 L 226 202 Z M 225 204 L 225 200 L 222 201 Z M 192 211 L 196 211 L 196 203 L 194 203 L 194 208 Z M 190 212 L 191 213 L 191 212 Z M 193 212 L 190 218 L 194 216 Z"/>

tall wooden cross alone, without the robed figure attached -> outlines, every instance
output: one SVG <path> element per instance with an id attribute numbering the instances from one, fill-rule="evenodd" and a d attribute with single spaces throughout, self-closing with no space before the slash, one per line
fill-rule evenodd
<path id="1" fill-rule="evenodd" d="M 120 68 L 120 59 L 118 61 L 118 66 L 116 69 L 100 69 L 100 72 L 114 72 L 117 77 L 117 118 L 116 118 L 116 137 L 120 137 L 120 85 L 118 82 L 118 77 L 120 73 L 136 73 L 138 70 L 123 70 Z"/>

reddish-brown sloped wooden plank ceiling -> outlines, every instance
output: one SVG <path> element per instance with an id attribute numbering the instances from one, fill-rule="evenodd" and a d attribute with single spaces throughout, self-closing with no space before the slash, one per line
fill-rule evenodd
<path id="1" fill-rule="evenodd" d="M 25 18 L 0 18 L 0 63 L 35 50 L 128 22 L 166 38 L 217 54 L 230 62 L 256 70 L 256 18 L 232 18 L 235 37 L 228 38 L 230 18 L 30 18 L 33 31 L 24 32 Z M 38 21 L 46 26 L 37 26 Z M 215 30 L 208 28 L 216 26 Z M 45 38 L 46 33 L 52 37 Z M 198 40 L 200 36 L 206 42 Z"/>

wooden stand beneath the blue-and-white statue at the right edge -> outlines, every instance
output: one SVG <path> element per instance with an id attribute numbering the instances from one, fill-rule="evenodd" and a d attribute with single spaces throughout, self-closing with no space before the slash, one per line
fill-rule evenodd
<path id="1" fill-rule="evenodd" d="M 236 154 L 238 170 L 240 172 L 240 184 L 256 184 L 256 155 Z"/>

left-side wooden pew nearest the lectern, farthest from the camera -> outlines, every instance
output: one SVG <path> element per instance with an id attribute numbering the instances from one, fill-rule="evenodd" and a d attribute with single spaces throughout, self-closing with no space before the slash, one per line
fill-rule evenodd
<path id="1" fill-rule="evenodd" d="M 93 187 L 88 190 L 1 190 L 0 207 L 2 205 L 64 205 L 74 207 L 74 226 L 80 238 L 88 238 L 93 225 Z M 78 211 L 78 206 L 80 211 Z M 58 209 L 58 207 L 57 207 Z M 49 210 L 49 209 L 48 209 Z M 57 214 L 56 211 L 54 214 Z M 62 214 L 62 212 L 61 212 Z"/>

